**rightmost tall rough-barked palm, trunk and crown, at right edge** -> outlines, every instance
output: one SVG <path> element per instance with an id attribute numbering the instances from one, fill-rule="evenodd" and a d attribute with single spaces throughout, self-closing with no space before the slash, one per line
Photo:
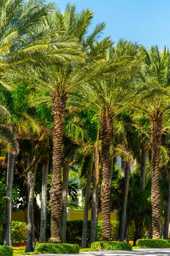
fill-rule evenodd
<path id="1" fill-rule="evenodd" d="M 147 91 L 145 91 L 144 96 L 140 95 L 136 99 L 136 102 L 138 102 L 136 109 L 141 111 L 141 114 L 136 116 L 150 118 L 152 141 L 152 227 L 153 239 L 159 239 L 161 204 L 159 163 L 162 125 L 165 116 L 169 114 L 170 54 L 168 48 L 164 47 L 163 51 L 159 51 L 157 46 L 152 46 L 147 51 L 144 49 L 144 52 L 146 54 L 145 64 L 139 73 L 139 80 L 137 81 L 139 81 L 140 86 L 141 84 L 142 86 L 147 85 Z M 150 87 L 149 91 L 148 87 Z"/>

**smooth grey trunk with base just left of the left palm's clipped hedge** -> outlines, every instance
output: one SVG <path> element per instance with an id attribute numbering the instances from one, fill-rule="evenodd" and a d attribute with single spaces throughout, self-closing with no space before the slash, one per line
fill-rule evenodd
<path id="1" fill-rule="evenodd" d="M 28 232 L 27 232 L 27 243 L 25 252 L 34 252 L 35 237 L 34 237 L 34 189 L 35 189 L 35 178 L 37 172 L 37 163 L 32 169 L 32 174 L 29 180 L 30 189 L 28 197 Z"/>

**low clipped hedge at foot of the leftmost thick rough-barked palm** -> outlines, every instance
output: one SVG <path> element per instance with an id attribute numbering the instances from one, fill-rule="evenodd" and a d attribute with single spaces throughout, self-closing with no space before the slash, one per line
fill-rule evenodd
<path id="1" fill-rule="evenodd" d="M 34 253 L 79 253 L 78 244 L 37 244 Z"/>

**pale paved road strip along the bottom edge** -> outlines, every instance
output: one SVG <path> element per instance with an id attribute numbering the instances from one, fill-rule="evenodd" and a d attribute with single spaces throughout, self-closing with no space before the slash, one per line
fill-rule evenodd
<path id="1" fill-rule="evenodd" d="M 37 256 L 40 256 L 37 255 Z M 77 254 L 43 254 L 41 256 L 170 256 L 170 249 L 136 249 L 133 251 L 96 251 Z"/>

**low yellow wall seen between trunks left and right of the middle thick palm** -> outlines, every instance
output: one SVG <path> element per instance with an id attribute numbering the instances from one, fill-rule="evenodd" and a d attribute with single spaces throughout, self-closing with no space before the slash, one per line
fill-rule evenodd
<path id="1" fill-rule="evenodd" d="M 83 220 L 83 210 L 71 210 L 68 209 L 68 220 L 74 221 L 74 220 Z M 116 212 L 111 212 L 111 221 L 116 220 Z M 91 220 L 91 211 L 88 211 L 88 220 Z M 98 214 L 98 220 L 102 220 L 102 214 L 99 212 Z"/>

